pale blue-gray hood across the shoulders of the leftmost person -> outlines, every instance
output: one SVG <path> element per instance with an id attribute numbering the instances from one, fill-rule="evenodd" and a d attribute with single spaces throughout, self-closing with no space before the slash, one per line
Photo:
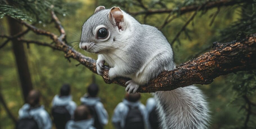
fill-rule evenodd
<path id="1" fill-rule="evenodd" d="M 44 106 L 41 105 L 36 108 L 30 108 L 30 105 L 28 103 L 24 104 L 23 107 L 19 110 L 19 118 L 28 118 L 35 114 L 41 113 L 41 111 L 44 110 Z"/>

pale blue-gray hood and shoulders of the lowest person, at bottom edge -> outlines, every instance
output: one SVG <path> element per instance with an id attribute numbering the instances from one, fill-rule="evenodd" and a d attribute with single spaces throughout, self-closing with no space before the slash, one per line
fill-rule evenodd
<path id="1" fill-rule="evenodd" d="M 88 129 L 89 127 L 93 126 L 93 123 L 93 118 L 81 121 L 71 121 L 69 127 L 72 129 Z"/>

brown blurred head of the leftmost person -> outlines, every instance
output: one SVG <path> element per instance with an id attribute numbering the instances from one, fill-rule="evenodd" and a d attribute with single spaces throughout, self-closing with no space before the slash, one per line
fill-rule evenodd
<path id="1" fill-rule="evenodd" d="M 27 102 L 30 104 L 31 107 L 35 107 L 36 105 L 39 105 L 40 102 L 41 93 L 37 90 L 31 90 L 28 93 Z"/>

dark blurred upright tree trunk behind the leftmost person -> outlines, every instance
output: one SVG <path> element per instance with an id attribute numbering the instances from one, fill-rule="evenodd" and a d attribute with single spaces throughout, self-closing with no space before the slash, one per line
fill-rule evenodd
<path id="1" fill-rule="evenodd" d="M 8 21 L 11 36 L 22 31 L 22 25 L 19 24 L 16 20 L 9 17 Z M 33 87 L 23 42 L 18 41 L 17 39 L 12 39 L 12 48 L 18 68 L 24 102 L 26 102 L 26 97 L 28 96 L 29 91 L 33 89 Z"/>

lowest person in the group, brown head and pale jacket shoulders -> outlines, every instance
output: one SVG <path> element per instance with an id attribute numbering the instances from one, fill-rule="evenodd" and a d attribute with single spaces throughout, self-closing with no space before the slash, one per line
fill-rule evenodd
<path id="1" fill-rule="evenodd" d="M 68 121 L 66 129 L 95 129 L 90 110 L 85 105 L 80 105 L 75 110 L 74 120 Z"/>

